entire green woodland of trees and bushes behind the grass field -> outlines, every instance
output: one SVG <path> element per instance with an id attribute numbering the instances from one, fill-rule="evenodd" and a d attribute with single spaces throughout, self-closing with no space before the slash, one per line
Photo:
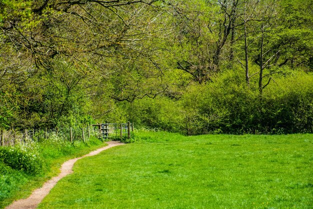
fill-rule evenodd
<path id="1" fill-rule="evenodd" d="M 1 0 L 0 128 L 313 130 L 313 0 Z"/>

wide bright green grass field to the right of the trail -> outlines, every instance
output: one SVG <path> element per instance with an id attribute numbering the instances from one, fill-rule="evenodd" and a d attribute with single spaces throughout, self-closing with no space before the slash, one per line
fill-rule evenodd
<path id="1" fill-rule="evenodd" d="M 74 165 L 38 208 L 313 208 L 313 135 L 136 133 Z"/>

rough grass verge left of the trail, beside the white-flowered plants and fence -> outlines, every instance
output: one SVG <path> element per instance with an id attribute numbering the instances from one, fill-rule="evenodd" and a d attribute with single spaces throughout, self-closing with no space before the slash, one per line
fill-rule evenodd
<path id="1" fill-rule="evenodd" d="M 0 162 L 0 208 L 4 208 L 16 199 L 29 196 L 32 190 L 57 175 L 64 161 L 82 156 L 104 144 L 91 137 L 86 143 L 74 141 L 72 145 L 65 143 L 64 146 L 57 146 L 53 143 L 38 143 L 38 145 L 40 155 L 45 161 L 43 172 L 40 175 L 28 175 Z"/>

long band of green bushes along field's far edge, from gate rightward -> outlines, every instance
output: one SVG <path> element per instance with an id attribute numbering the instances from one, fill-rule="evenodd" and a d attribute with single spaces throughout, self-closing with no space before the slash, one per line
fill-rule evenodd
<path id="1" fill-rule="evenodd" d="M 225 71 L 212 77 L 212 83 L 186 87 L 179 102 L 164 98 L 140 100 L 130 106 L 130 112 L 137 126 L 187 135 L 311 133 L 312 79 L 309 73 L 276 75 L 275 83 L 260 96 L 257 85 L 252 87 L 257 80 L 252 79 L 248 87 L 241 71 Z"/>

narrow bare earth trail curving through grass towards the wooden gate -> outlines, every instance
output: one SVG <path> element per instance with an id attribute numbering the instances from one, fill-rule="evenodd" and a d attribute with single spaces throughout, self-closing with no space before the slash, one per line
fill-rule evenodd
<path id="1" fill-rule="evenodd" d="M 96 155 L 105 149 L 123 144 L 123 143 L 120 143 L 117 141 L 108 141 L 106 143 L 108 145 L 105 147 L 101 147 L 101 148 L 94 150 L 94 151 L 90 152 L 89 154 L 83 155 L 81 157 L 77 157 L 77 158 L 73 158 L 73 159 L 65 161 L 60 168 L 60 173 L 58 176 L 55 176 L 55 177 L 51 178 L 50 180 L 46 181 L 42 185 L 41 188 L 37 188 L 36 190 L 34 190 L 28 198 L 16 200 L 12 204 L 7 206 L 6 209 L 32 209 L 32 208 L 36 208 L 37 205 L 41 202 L 41 200 L 49 193 L 51 188 L 53 188 L 53 186 L 56 184 L 57 181 L 59 181 L 64 176 L 73 172 L 72 168 L 73 168 L 74 163 L 77 160 L 79 160 L 83 157 Z"/>

